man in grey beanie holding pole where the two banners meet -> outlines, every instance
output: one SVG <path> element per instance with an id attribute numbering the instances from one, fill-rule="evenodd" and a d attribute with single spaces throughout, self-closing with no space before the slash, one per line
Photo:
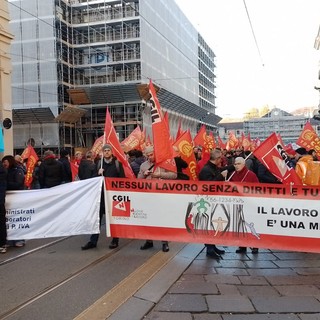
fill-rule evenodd
<path id="1" fill-rule="evenodd" d="M 97 170 L 99 176 L 109 178 L 125 178 L 123 166 L 119 160 L 113 155 L 112 147 L 110 144 L 105 144 L 102 147 L 103 157 L 97 162 Z M 101 163 L 102 161 L 102 163 Z M 104 190 L 101 192 L 101 203 L 100 203 L 100 226 L 103 215 L 105 214 L 105 201 L 104 201 Z M 90 240 L 81 247 L 82 250 L 88 250 L 96 248 L 99 240 L 99 233 L 92 234 Z M 112 238 L 109 245 L 110 249 L 115 249 L 119 245 L 119 238 Z"/>

